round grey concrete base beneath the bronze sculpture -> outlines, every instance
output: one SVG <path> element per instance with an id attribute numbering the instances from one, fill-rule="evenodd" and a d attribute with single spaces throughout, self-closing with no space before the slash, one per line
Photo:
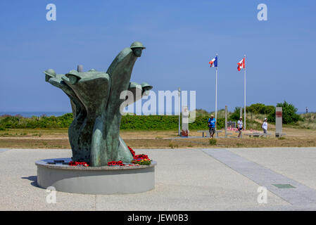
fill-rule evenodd
<path id="1" fill-rule="evenodd" d="M 155 166 L 73 167 L 70 158 L 39 160 L 37 185 L 56 191 L 93 195 L 126 194 L 155 188 Z"/>

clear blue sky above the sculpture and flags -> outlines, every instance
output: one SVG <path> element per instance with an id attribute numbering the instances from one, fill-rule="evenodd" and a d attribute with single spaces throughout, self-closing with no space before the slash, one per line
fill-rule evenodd
<path id="1" fill-rule="evenodd" d="M 56 4 L 57 20 L 46 20 Z M 267 4 L 268 21 L 257 20 Z M 147 49 L 132 81 L 153 91 L 196 90 L 196 108 L 288 101 L 316 111 L 316 1 L 0 1 L 0 111 L 70 111 L 68 97 L 44 82 L 44 70 L 107 70 L 133 41 Z"/>

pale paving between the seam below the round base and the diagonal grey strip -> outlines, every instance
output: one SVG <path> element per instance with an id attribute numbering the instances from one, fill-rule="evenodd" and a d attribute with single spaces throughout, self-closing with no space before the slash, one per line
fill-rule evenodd
<path id="1" fill-rule="evenodd" d="M 241 210 L 289 205 L 273 193 L 268 193 L 268 205 L 258 204 L 257 184 L 201 150 L 137 153 L 148 153 L 158 162 L 155 190 L 124 196 L 98 195 L 97 210 Z"/>

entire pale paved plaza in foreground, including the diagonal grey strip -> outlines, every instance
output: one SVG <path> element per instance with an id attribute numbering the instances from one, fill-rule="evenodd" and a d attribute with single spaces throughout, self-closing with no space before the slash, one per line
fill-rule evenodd
<path id="1" fill-rule="evenodd" d="M 153 191 L 128 195 L 57 192 L 57 203 L 48 204 L 49 193 L 37 187 L 34 162 L 67 158 L 71 151 L 0 150 L 0 210 L 316 210 L 316 148 L 136 152 L 158 162 Z M 267 203 L 258 203 L 260 186 L 267 188 Z"/>

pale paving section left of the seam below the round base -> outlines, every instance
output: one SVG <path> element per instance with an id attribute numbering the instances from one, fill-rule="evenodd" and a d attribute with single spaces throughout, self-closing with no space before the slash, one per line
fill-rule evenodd
<path id="1" fill-rule="evenodd" d="M 70 157 L 70 150 L 8 150 L 0 154 L 0 210 L 95 210 L 94 195 L 56 193 L 56 204 L 47 204 L 49 193 L 37 187 L 34 160 Z"/>

